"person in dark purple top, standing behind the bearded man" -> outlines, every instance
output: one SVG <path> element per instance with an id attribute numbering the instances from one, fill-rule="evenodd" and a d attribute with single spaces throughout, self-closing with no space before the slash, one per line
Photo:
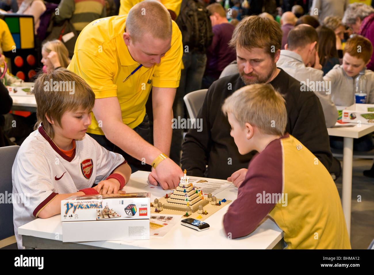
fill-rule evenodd
<path id="1" fill-rule="evenodd" d="M 202 89 L 208 89 L 220 77 L 223 69 L 236 59 L 236 52 L 229 47 L 235 27 L 226 18 L 226 12 L 221 4 L 214 3 L 206 7 L 211 13 L 212 44 L 206 52 L 206 67 L 202 80 Z"/>

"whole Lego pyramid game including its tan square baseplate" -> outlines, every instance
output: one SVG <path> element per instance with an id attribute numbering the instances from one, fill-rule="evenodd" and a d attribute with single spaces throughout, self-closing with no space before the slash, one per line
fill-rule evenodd
<path id="1" fill-rule="evenodd" d="M 183 215 L 183 217 L 202 221 L 231 202 L 226 199 L 217 199 L 211 193 L 208 193 L 206 197 L 203 196 L 202 190 L 191 183 L 186 172 L 185 169 L 184 176 L 172 193 L 166 193 L 164 197 L 153 201 L 151 213 Z M 197 180 L 196 183 L 199 181 L 201 180 Z"/>

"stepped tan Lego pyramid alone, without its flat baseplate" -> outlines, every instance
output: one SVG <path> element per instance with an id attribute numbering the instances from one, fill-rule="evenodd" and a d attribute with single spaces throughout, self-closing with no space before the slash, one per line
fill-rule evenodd
<path id="1" fill-rule="evenodd" d="M 208 203 L 202 192 L 190 183 L 190 178 L 187 177 L 186 169 L 184 169 L 184 176 L 181 177 L 179 185 L 170 195 L 170 198 L 166 199 L 163 208 L 189 212 L 189 209 L 187 209 L 189 207 L 190 211 L 195 212 L 200 205 L 204 206 Z"/>

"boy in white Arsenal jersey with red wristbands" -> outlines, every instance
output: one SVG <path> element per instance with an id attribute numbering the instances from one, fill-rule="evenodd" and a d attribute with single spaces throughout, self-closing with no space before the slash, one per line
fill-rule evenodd
<path id="1" fill-rule="evenodd" d="M 95 94 L 82 78 L 60 68 L 41 74 L 34 93 L 37 129 L 12 168 L 13 197 L 22 198 L 13 200 L 18 248 L 24 248 L 19 226 L 59 214 L 61 200 L 73 195 L 122 193 L 131 175 L 122 155 L 86 134 Z"/>

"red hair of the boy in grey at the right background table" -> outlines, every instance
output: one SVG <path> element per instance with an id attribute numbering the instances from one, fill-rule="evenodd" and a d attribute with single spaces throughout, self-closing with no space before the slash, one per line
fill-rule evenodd
<path id="1" fill-rule="evenodd" d="M 348 39 L 344 45 L 343 54 L 345 53 L 363 59 L 366 64 L 373 54 L 373 45 L 369 39 L 361 35 L 355 35 Z"/>

